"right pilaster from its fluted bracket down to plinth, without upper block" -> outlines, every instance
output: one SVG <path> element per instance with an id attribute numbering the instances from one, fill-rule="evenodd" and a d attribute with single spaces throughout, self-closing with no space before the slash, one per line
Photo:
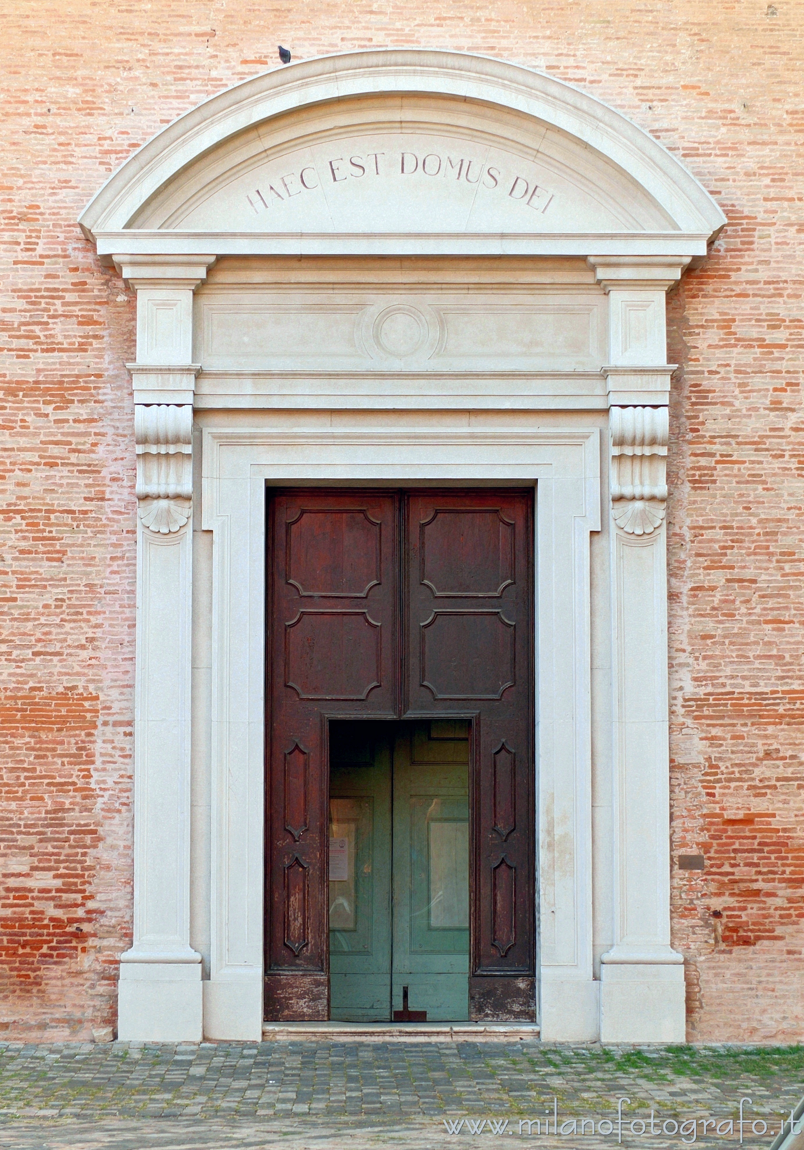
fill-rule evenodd
<path id="1" fill-rule="evenodd" d="M 601 1041 L 683 1042 L 683 959 L 670 945 L 667 408 L 610 412 L 613 946 Z"/>

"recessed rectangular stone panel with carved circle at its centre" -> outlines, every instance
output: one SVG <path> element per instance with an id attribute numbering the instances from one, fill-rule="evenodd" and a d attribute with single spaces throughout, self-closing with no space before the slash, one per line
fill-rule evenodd
<path id="1" fill-rule="evenodd" d="M 196 355 L 230 371 L 594 371 L 605 297 L 519 291 L 207 289 Z"/>

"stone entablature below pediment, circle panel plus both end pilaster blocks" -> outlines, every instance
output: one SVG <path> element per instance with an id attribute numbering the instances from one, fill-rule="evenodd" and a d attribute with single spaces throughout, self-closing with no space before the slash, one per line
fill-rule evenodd
<path id="1" fill-rule="evenodd" d="M 203 408 L 666 404 L 685 259 L 272 260 L 116 253 L 137 402 Z M 172 277 L 172 278 L 171 278 Z"/>

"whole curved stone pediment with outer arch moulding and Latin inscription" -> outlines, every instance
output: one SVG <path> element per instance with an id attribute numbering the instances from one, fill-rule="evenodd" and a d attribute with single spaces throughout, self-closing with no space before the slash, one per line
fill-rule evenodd
<path id="1" fill-rule="evenodd" d="M 121 232 L 129 248 L 132 232 L 162 233 L 160 250 L 165 233 L 203 235 L 221 254 L 278 250 L 261 236 L 322 252 L 371 236 L 377 254 L 401 237 L 465 237 L 479 252 L 492 237 L 541 237 L 533 251 L 551 254 L 621 237 L 629 251 L 695 258 L 725 217 L 678 160 L 592 97 L 495 60 L 389 49 L 214 97 L 131 156 L 80 223 L 99 251 Z M 577 251 L 559 241 L 581 236 Z"/>

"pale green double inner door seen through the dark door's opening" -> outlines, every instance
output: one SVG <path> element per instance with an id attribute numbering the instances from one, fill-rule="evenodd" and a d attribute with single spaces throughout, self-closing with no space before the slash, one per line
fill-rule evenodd
<path id="1" fill-rule="evenodd" d="M 332 1019 L 469 1011 L 469 724 L 331 726 Z"/>

